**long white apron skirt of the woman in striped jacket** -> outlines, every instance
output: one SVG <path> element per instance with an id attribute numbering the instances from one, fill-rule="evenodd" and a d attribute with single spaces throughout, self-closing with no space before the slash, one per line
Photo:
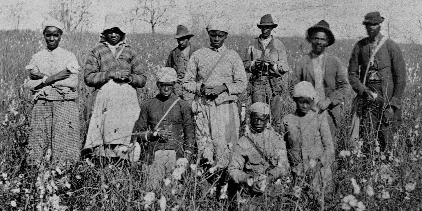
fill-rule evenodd
<path id="1" fill-rule="evenodd" d="M 133 126 L 139 117 L 136 89 L 108 81 L 97 93 L 84 149 L 103 157 L 128 159 Z"/>

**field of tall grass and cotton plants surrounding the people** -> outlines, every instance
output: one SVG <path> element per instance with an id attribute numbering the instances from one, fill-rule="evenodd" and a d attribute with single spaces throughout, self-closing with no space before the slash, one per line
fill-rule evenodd
<path id="1" fill-rule="evenodd" d="M 242 56 L 251 38 L 246 35 L 229 35 L 226 46 Z M 65 34 L 60 46 L 76 54 L 84 66 L 87 52 L 97 41 L 97 34 Z M 303 38 L 281 38 L 281 41 L 286 46 L 291 68 L 309 50 Z M 355 42 L 338 40 L 327 51 L 339 57 L 347 67 Z M 138 90 L 139 102 L 142 104 L 157 93 L 154 73 L 165 64 L 176 42 L 170 35 L 130 34 L 128 43 L 141 54 L 148 73 L 146 87 Z M 197 35 L 192 38 L 192 43 L 207 46 L 208 39 L 204 35 Z M 32 100 L 30 92 L 23 88 L 23 80 L 28 76 L 24 66 L 31 55 L 44 46 L 45 42 L 39 32 L 0 31 L 0 210 L 143 210 L 147 207 L 158 210 L 160 203 L 165 204 L 166 210 L 229 209 L 229 201 L 224 197 L 216 200 L 214 187 L 206 181 L 211 173 L 202 172 L 195 165 L 189 173 L 184 173 L 181 180 L 170 176 L 166 185 L 154 190 L 152 195 L 151 187 L 143 181 L 143 178 L 151 175 L 143 172 L 138 164 L 106 165 L 103 168 L 89 160 L 81 160 L 66 170 L 54 168 L 54 165 L 35 168 L 25 164 Z M 359 149 L 348 148 L 348 116 L 354 97 L 351 91 L 341 104 L 343 118 L 337 152 L 341 156 L 336 158 L 336 191 L 326 197 L 325 208 L 329 210 L 358 210 L 354 206 L 358 202 L 361 202 L 360 208 L 363 204 L 367 210 L 422 209 L 422 143 L 419 135 L 422 47 L 414 44 L 402 44 L 400 47 L 406 60 L 408 80 L 403 96 L 403 124 L 395 136 L 395 144 L 388 154 L 367 151 L 364 152 L 365 157 L 358 153 Z M 289 76 L 286 75 L 282 116 L 293 111 L 293 103 L 287 92 L 288 81 Z M 78 105 L 82 123 L 84 102 L 92 89 L 84 86 L 83 77 L 80 82 Z M 240 95 L 239 106 L 242 103 L 249 105 L 249 96 Z M 351 156 L 346 156 L 345 150 L 352 150 Z M 353 179 L 355 183 L 351 182 Z M 278 195 L 267 193 L 267 201 L 263 202 L 267 210 L 321 208 L 318 202 L 321 196 L 300 189 L 295 182 L 284 182 L 281 189 L 283 191 Z"/>

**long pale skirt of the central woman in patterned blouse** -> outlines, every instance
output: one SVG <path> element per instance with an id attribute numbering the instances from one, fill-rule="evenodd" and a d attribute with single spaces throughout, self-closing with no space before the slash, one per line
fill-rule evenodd
<path id="1" fill-rule="evenodd" d="M 230 148 L 239 138 L 239 112 L 233 101 L 211 105 L 205 98 L 198 97 L 192 103 L 198 154 L 217 168 L 229 163 Z"/>

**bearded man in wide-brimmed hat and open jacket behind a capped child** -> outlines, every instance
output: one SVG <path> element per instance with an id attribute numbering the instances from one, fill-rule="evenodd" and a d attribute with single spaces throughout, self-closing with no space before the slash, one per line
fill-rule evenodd
<path id="1" fill-rule="evenodd" d="M 340 103 L 348 95 L 349 82 L 346 68 L 341 60 L 325 53 L 325 48 L 335 42 L 330 25 L 320 21 L 307 31 L 306 39 L 312 45 L 312 51 L 300 58 L 295 65 L 291 81 L 292 88 L 300 81 L 308 81 L 317 92 L 315 99 L 319 112 L 327 113 L 334 148 L 337 147 L 337 130 L 340 126 Z"/>

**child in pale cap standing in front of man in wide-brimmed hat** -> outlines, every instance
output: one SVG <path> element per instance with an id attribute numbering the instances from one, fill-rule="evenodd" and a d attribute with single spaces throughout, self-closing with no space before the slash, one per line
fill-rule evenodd
<path id="1" fill-rule="evenodd" d="M 281 120 L 281 134 L 287 143 L 293 175 L 297 179 L 309 176 L 311 187 L 321 192 L 323 187 L 331 187 L 334 146 L 325 113 L 311 110 L 316 95 L 307 81 L 295 85 L 292 97 L 296 111 Z"/>

